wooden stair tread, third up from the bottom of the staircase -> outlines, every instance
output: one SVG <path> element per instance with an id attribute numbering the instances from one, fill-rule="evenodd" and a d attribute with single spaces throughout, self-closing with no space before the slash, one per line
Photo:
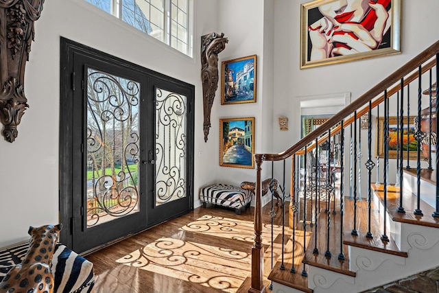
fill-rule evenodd
<path id="1" fill-rule="evenodd" d="M 346 200 L 345 207 L 345 222 L 346 231 L 353 230 L 353 200 Z M 407 253 L 400 251 L 394 239 L 389 237 L 389 242 L 383 242 L 381 240 L 381 234 L 383 233 L 383 221 L 375 209 L 374 203 L 370 202 L 370 233 L 372 233 L 372 238 L 366 237 L 368 233 L 368 202 L 366 200 L 361 200 L 357 202 L 357 234 L 352 235 L 351 232 L 344 232 L 343 244 L 351 245 L 360 248 L 366 248 L 374 251 L 379 251 L 381 253 L 388 253 L 390 255 L 399 255 L 401 257 L 407 257 Z M 347 228 L 351 229 L 348 230 Z"/>

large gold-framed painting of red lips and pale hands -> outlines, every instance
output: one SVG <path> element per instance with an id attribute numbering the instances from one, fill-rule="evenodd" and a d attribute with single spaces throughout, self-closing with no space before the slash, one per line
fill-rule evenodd
<path id="1" fill-rule="evenodd" d="M 301 5 L 300 69 L 400 54 L 401 0 Z"/>

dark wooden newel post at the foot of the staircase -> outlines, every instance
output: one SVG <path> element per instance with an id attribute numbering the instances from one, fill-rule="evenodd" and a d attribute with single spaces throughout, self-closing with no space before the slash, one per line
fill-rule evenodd
<path id="1" fill-rule="evenodd" d="M 262 249 L 262 203 L 261 203 L 261 165 L 262 154 L 255 154 L 254 161 L 257 165 L 256 192 L 254 199 L 254 244 L 252 247 L 252 286 L 249 293 L 265 292 L 263 285 L 263 249 Z"/>

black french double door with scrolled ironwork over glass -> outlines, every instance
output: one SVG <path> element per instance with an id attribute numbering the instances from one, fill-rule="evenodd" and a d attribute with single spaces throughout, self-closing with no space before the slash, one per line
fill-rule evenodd
<path id="1" fill-rule="evenodd" d="M 193 209 L 193 86 L 62 38 L 62 242 L 79 253 Z"/>

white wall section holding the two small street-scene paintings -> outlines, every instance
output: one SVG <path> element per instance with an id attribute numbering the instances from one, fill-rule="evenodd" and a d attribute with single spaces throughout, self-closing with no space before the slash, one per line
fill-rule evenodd
<path id="1" fill-rule="evenodd" d="M 274 4 L 268 0 L 221 0 L 218 6 L 218 30 L 228 37 L 226 49 L 219 62 L 244 56 L 257 55 L 256 103 L 220 105 L 217 91 L 215 115 L 209 140 L 216 143 L 216 180 L 233 185 L 256 180 L 256 169 L 219 167 L 219 119 L 255 117 L 255 153 L 272 152 L 272 80 Z M 264 169 L 265 171 L 265 169 Z"/>

